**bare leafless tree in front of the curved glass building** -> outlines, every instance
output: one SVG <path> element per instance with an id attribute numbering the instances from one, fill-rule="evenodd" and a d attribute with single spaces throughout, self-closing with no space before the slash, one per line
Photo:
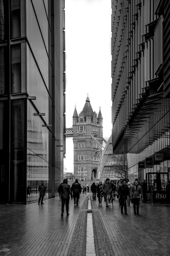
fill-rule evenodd
<path id="1" fill-rule="evenodd" d="M 127 154 L 112 155 L 114 163 L 114 171 L 122 179 L 127 179 L 128 177 L 128 165 L 127 165 Z"/>

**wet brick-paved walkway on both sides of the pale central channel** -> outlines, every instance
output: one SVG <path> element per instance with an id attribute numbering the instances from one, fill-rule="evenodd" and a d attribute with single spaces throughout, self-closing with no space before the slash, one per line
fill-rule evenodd
<path id="1" fill-rule="evenodd" d="M 87 202 L 88 194 L 78 206 L 70 200 L 64 217 L 58 197 L 44 205 L 0 205 L 0 255 L 85 255 Z M 132 206 L 127 212 L 120 213 L 118 199 L 109 208 L 92 201 L 96 255 L 170 255 L 170 206 L 141 204 L 139 216 Z"/>

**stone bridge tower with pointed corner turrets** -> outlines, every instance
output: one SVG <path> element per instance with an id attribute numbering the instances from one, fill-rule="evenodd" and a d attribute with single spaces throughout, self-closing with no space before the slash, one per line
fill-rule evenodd
<path id="1" fill-rule="evenodd" d="M 78 116 L 76 107 L 73 114 L 74 176 L 81 184 L 91 185 L 95 180 L 102 150 L 91 138 L 102 144 L 103 118 L 92 110 L 89 97 Z"/>

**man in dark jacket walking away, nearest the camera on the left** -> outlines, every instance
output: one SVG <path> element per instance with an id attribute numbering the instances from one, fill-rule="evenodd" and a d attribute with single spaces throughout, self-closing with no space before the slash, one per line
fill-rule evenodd
<path id="1" fill-rule="evenodd" d="M 70 185 L 68 185 L 67 182 L 68 182 L 68 180 L 64 179 L 63 184 L 60 184 L 60 186 L 59 186 L 59 191 L 61 192 L 61 200 L 62 200 L 62 214 L 61 214 L 61 216 L 63 216 L 63 213 L 64 213 L 64 205 L 66 206 L 67 216 L 69 215 L 68 210 L 69 210 L 70 196 L 71 196 L 71 200 L 73 199 L 73 195 L 72 195 L 72 192 L 71 192 Z"/>

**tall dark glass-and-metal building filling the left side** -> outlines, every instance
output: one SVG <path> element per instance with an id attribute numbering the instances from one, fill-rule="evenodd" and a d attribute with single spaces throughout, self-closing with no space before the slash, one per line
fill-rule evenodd
<path id="1" fill-rule="evenodd" d="M 64 0 L 0 0 L 0 203 L 57 195 L 65 153 Z"/>

